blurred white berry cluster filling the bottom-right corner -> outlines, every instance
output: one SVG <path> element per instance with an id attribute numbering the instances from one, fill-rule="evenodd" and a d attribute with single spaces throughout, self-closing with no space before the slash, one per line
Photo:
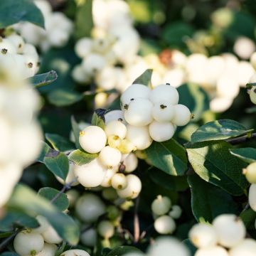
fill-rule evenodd
<path id="1" fill-rule="evenodd" d="M 191 228 L 189 238 L 198 247 L 195 256 L 254 255 L 256 242 L 245 238 L 245 225 L 233 214 L 222 214 L 213 224 L 198 223 Z"/>

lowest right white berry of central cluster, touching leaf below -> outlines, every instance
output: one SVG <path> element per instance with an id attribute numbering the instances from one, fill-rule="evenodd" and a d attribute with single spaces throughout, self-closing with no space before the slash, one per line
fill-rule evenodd
<path id="1" fill-rule="evenodd" d="M 149 135 L 155 142 L 165 142 L 174 136 L 175 128 L 171 122 L 151 122 Z"/>

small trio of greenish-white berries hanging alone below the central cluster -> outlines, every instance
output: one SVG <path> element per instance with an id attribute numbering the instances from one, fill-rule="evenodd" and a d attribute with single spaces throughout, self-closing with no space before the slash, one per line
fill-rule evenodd
<path id="1" fill-rule="evenodd" d="M 154 228 L 162 235 L 174 233 L 176 223 L 174 219 L 181 217 L 181 207 L 171 206 L 171 199 L 167 196 L 157 196 L 151 204 L 151 210 L 154 215 Z"/>

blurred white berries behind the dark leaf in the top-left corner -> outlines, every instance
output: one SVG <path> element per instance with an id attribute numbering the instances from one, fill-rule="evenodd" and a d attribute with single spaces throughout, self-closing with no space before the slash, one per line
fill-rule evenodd
<path id="1" fill-rule="evenodd" d="M 35 0 L 34 3 L 41 10 L 46 29 L 32 23 L 18 23 L 14 28 L 28 43 L 46 51 L 50 47 L 63 47 L 68 42 L 73 31 L 73 23 L 62 12 L 54 11 L 46 0 Z"/>

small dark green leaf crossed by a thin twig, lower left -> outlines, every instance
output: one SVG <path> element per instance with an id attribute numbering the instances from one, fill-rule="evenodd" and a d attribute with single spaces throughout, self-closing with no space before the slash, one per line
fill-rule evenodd
<path id="1" fill-rule="evenodd" d="M 43 196 L 43 198 L 48 199 L 48 201 L 51 201 L 55 196 L 60 193 L 55 188 L 40 188 L 38 191 L 38 195 Z M 68 197 L 65 193 L 61 193 L 60 196 L 58 196 L 57 199 L 53 202 L 53 204 L 60 210 L 66 210 L 68 208 Z"/>

